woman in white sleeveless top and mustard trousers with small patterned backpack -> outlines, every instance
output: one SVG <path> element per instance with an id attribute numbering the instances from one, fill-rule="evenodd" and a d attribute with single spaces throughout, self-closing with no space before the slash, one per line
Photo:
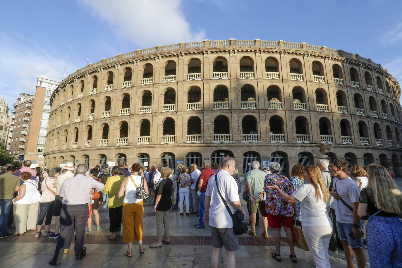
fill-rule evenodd
<path id="1" fill-rule="evenodd" d="M 118 196 L 123 200 L 123 241 L 127 243 L 128 250 L 124 253 L 133 257 L 133 241 L 139 243 L 139 253 L 144 254 L 142 245 L 142 218 L 144 216 L 144 199 L 148 198 L 148 184 L 138 175 L 141 166 L 135 163 L 131 166 L 131 176 L 125 177 L 121 183 Z"/>

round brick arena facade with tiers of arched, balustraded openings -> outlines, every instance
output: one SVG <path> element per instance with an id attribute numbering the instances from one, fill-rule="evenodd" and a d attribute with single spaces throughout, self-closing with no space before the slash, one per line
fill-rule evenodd
<path id="1" fill-rule="evenodd" d="M 185 165 L 204 158 L 371 162 L 400 176 L 400 86 L 358 54 L 285 41 L 159 45 L 78 69 L 51 96 L 46 166 Z M 332 144 L 332 145 L 331 145 Z"/>

